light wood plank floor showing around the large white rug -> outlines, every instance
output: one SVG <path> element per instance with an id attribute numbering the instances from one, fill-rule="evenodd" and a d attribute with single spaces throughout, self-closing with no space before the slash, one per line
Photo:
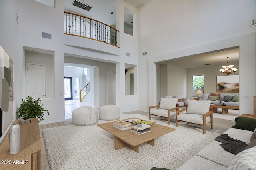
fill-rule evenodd
<path id="1" fill-rule="evenodd" d="M 134 111 L 134 112 L 126 112 L 126 113 L 121 113 L 121 116 L 128 115 L 128 114 L 142 114 L 142 115 L 148 115 L 148 112 L 143 112 L 143 111 Z M 158 117 L 156 117 L 158 118 Z M 171 123 L 175 125 L 175 118 L 171 118 Z M 46 156 L 46 151 L 45 151 L 45 145 L 44 145 L 44 139 L 42 136 L 42 129 L 46 128 L 54 128 L 54 127 L 59 127 L 59 126 L 66 126 L 72 124 L 72 119 L 66 119 L 64 122 L 57 122 L 57 123 L 51 123 L 51 124 L 42 124 L 39 125 L 39 130 L 40 130 L 40 136 L 41 136 L 41 143 L 42 143 L 42 170 L 50 170 L 47 156 Z M 186 126 L 192 126 L 196 128 L 202 128 L 202 126 L 196 126 L 192 124 L 187 124 L 185 122 L 179 122 L 179 124 L 184 124 Z M 231 121 L 230 120 L 223 120 L 223 119 L 217 119 L 214 118 L 214 129 L 210 128 L 210 124 L 206 125 L 206 133 L 208 131 L 216 132 L 216 133 L 224 133 L 226 130 L 228 130 L 231 127 Z"/>

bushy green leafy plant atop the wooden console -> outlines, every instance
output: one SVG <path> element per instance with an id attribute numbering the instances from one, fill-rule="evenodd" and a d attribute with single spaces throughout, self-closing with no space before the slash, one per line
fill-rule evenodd
<path id="1" fill-rule="evenodd" d="M 41 105 L 41 100 L 37 100 L 28 96 L 26 100 L 22 99 L 22 103 L 17 110 L 17 115 L 19 118 L 28 119 L 28 118 L 38 118 L 38 122 L 44 120 L 44 112 L 50 114 L 48 110 L 43 108 Z"/>

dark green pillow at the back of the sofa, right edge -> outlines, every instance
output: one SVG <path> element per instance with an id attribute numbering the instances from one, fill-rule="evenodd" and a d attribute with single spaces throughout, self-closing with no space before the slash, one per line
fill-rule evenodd
<path id="1" fill-rule="evenodd" d="M 247 117 L 236 117 L 236 125 L 232 128 L 254 131 L 256 128 L 256 119 Z"/>

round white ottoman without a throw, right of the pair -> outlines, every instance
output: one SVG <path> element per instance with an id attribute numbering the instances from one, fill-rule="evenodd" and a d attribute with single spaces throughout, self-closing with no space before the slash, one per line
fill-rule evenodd
<path id="1" fill-rule="evenodd" d="M 116 105 L 104 105 L 100 107 L 101 120 L 117 120 L 120 118 L 120 108 Z"/>

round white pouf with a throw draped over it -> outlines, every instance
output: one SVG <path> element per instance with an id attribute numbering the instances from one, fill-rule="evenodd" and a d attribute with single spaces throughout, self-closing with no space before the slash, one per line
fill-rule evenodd
<path id="1" fill-rule="evenodd" d="M 94 125 L 98 122 L 98 110 L 91 106 L 82 106 L 72 112 L 72 123 L 75 125 Z"/>

